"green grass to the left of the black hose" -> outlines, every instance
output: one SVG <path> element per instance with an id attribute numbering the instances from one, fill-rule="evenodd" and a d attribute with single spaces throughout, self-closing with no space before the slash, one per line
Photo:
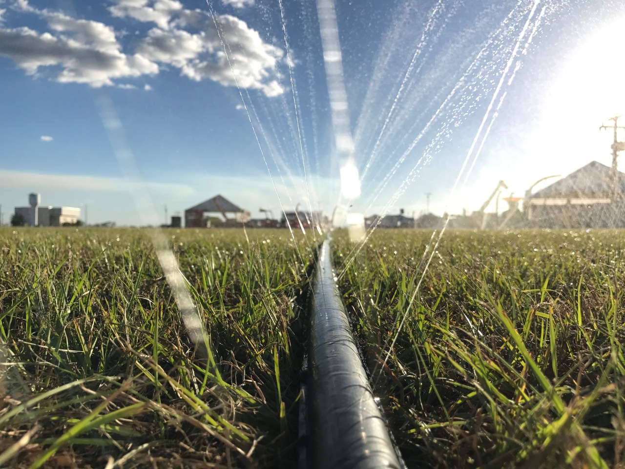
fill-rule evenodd
<path id="1" fill-rule="evenodd" d="M 164 233 L 208 355 L 148 231 L 0 229 L 0 466 L 294 465 L 314 241 Z"/>

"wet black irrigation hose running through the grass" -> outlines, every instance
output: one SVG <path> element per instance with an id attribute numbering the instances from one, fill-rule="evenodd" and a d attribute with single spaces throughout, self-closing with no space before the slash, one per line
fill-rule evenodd
<path id="1" fill-rule="evenodd" d="M 307 364 L 309 469 L 401 469 L 337 290 L 329 241 L 312 282 Z"/>

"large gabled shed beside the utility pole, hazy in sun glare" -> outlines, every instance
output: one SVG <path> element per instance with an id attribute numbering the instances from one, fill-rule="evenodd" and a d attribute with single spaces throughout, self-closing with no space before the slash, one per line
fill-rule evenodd
<path id="1" fill-rule="evenodd" d="M 616 191 L 612 190 L 614 180 Z M 615 177 L 612 168 L 592 161 L 532 194 L 524 211 L 529 225 L 537 228 L 623 227 L 624 191 L 624 173 L 617 171 Z"/>

